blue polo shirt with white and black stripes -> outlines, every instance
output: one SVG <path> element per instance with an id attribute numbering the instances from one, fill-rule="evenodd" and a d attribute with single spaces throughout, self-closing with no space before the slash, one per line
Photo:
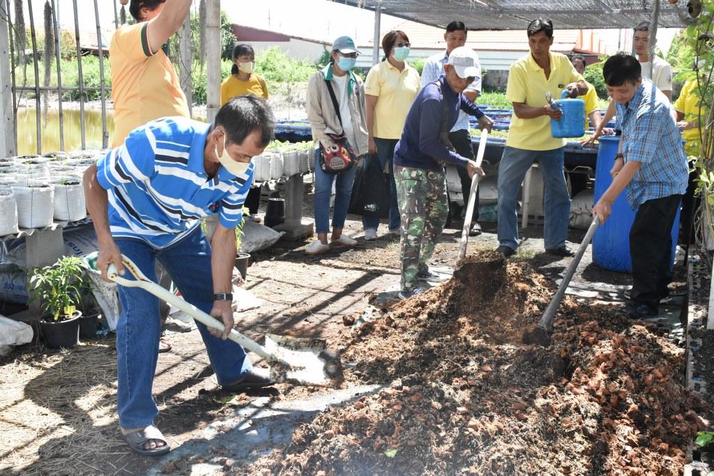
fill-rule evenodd
<path id="1" fill-rule="evenodd" d="M 97 180 L 109 196 L 112 236 L 165 248 L 213 213 L 226 228 L 241 223 L 253 163 L 241 176 L 221 167 L 208 178 L 203 150 L 210 129 L 188 118 L 162 118 L 134 129 L 123 146 L 99 159 Z"/>

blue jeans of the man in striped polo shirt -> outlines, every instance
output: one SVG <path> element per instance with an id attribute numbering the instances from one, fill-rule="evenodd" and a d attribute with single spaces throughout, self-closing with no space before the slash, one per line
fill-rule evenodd
<path id="1" fill-rule="evenodd" d="M 156 250 L 139 240 L 118 238 L 121 253 L 156 282 L 155 260 L 169 272 L 183 299 L 206 313 L 213 307 L 211 245 L 201 228 L 163 250 Z M 124 278 L 134 279 L 126 270 Z M 139 428 L 152 425 L 159 413 L 151 395 L 159 355 L 159 298 L 141 288 L 118 286 L 121 315 L 116 325 L 116 393 L 119 425 Z M 208 350 L 208 359 L 218 383 L 233 383 L 248 373 L 251 361 L 240 345 L 232 340 L 213 337 L 205 325 L 196 322 Z"/>

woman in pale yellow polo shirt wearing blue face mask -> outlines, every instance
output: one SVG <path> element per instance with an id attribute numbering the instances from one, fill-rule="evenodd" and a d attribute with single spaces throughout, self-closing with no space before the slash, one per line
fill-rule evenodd
<path id="1" fill-rule="evenodd" d="M 401 137 L 411 103 L 421 88 L 419 73 L 404 61 L 409 56 L 410 46 L 408 36 L 401 30 L 393 30 L 384 35 L 384 58 L 369 70 L 364 85 L 369 133 L 368 152 L 371 154 L 367 160 L 377 158 L 382 170 L 386 167 L 389 169 L 389 233 L 397 236 L 401 229 L 401 217 L 394 182 L 394 148 Z M 376 240 L 379 218 L 363 217 L 362 225 L 364 239 Z"/>

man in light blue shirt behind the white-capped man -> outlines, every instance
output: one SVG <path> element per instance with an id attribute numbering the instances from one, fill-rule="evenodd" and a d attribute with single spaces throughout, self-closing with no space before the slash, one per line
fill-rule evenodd
<path id="1" fill-rule="evenodd" d="M 446 51 L 431 56 L 424 63 L 424 68 L 421 71 L 422 88 L 428 83 L 433 83 L 444 74 L 444 65 L 446 65 L 446 62 L 448 61 L 448 56 L 451 54 L 451 51 L 466 44 L 466 34 L 468 34 L 468 30 L 462 21 L 452 21 L 446 26 L 446 32 L 444 33 Z M 481 93 L 481 65 L 478 64 L 478 56 L 476 53 L 473 53 L 473 56 L 476 58 L 477 74 L 473 77 L 471 84 L 463 90 L 463 95 L 466 96 L 466 98 L 468 98 L 468 100 L 472 103 L 476 103 L 476 98 L 478 98 L 478 95 Z M 483 118 L 479 120 L 478 128 L 483 129 L 486 126 L 487 121 L 490 121 L 488 116 L 483 116 Z M 454 124 L 451 131 L 449 131 L 448 138 L 460 156 L 473 159 L 471 134 L 468 132 L 468 128 L 468 114 L 461 111 L 458 113 L 456 124 Z M 466 205 L 466 203 L 468 203 L 468 194 L 471 192 L 471 178 L 468 177 L 468 173 L 466 173 L 465 168 L 458 167 L 456 170 L 458 170 L 458 176 L 461 178 L 463 203 Z M 479 225 L 477 221 L 478 190 L 476 191 L 476 202 L 473 206 L 471 231 L 468 233 L 470 236 L 481 235 L 481 225 Z"/>

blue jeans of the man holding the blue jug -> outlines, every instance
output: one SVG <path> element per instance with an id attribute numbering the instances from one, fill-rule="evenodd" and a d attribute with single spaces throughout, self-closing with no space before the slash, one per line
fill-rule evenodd
<path id="1" fill-rule="evenodd" d="M 560 248 L 568 236 L 570 195 L 563 173 L 563 147 L 551 151 L 526 151 L 508 147 L 498 164 L 498 243 L 518 248 L 516 196 L 534 162 L 543 173 L 543 238 L 545 249 Z"/>

